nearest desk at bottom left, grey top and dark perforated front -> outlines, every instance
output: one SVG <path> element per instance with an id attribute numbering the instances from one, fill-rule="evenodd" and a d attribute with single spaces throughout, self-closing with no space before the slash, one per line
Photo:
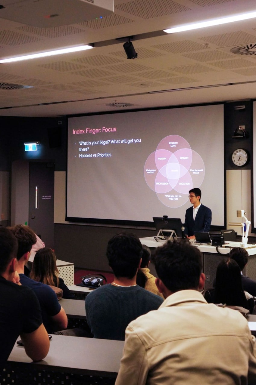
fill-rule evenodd
<path id="1" fill-rule="evenodd" d="M 123 345 L 124 341 L 52 335 L 48 355 L 32 363 L 15 344 L 1 384 L 114 384 Z"/>

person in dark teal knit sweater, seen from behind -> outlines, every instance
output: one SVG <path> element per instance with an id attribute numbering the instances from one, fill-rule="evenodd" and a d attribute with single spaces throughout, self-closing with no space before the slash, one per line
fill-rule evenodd
<path id="1" fill-rule="evenodd" d="M 94 338 L 124 340 L 125 328 L 138 316 L 156 310 L 163 302 L 158 295 L 136 285 L 142 245 L 133 234 L 118 234 L 107 246 L 114 281 L 86 296 L 86 319 Z"/>

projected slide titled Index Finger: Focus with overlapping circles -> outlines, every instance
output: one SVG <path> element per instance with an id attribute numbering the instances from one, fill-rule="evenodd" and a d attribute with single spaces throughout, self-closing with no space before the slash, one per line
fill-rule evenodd
<path id="1" fill-rule="evenodd" d="M 224 226 L 223 104 L 68 119 L 68 221 L 139 225 L 185 219 L 202 190 Z"/>

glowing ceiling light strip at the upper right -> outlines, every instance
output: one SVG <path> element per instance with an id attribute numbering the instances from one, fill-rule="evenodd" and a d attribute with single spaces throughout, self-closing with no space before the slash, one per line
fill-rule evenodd
<path id="1" fill-rule="evenodd" d="M 248 20 L 254 17 L 256 17 L 256 11 L 249 12 L 249 13 L 242 13 L 241 15 L 236 15 L 236 16 L 228 16 L 220 19 L 209 20 L 207 22 L 200 22 L 200 23 L 183 25 L 181 27 L 168 28 L 168 29 L 164 29 L 163 32 L 175 33 L 175 32 L 190 31 L 197 28 L 212 27 L 213 25 L 221 25 L 221 24 L 232 23 L 232 22 L 237 22 L 241 20 Z"/>

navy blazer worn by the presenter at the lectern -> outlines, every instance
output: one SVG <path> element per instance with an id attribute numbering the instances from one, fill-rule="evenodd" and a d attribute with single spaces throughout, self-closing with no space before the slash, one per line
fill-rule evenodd
<path id="1" fill-rule="evenodd" d="M 201 233 L 208 233 L 211 227 L 212 222 L 212 211 L 201 204 L 197 214 L 195 216 L 195 221 L 193 218 L 193 206 L 186 210 L 185 214 L 185 234 L 189 237 L 195 234 L 195 231 L 200 231 Z"/>

